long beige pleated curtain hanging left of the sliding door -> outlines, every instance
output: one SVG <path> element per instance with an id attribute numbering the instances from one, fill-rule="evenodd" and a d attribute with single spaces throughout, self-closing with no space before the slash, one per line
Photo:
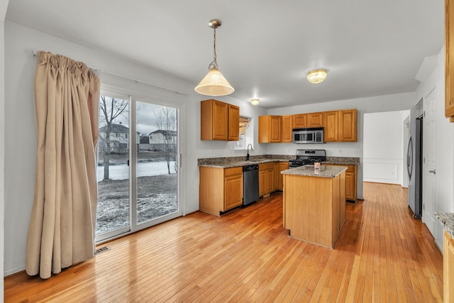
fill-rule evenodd
<path id="1" fill-rule="evenodd" d="M 47 279 L 94 256 L 99 79 L 82 62 L 38 52 L 35 199 L 26 272 Z"/>

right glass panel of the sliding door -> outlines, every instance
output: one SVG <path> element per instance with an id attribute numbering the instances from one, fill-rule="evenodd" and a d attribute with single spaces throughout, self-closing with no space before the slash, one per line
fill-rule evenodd
<path id="1" fill-rule="evenodd" d="M 178 211 L 177 109 L 138 101 L 137 224 Z"/>

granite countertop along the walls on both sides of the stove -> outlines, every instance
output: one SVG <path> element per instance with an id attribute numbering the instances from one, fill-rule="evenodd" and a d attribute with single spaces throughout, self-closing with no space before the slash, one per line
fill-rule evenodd
<path id="1" fill-rule="evenodd" d="M 263 164 L 270 162 L 288 162 L 294 160 L 294 155 L 251 155 L 249 161 L 245 161 L 245 156 L 241 157 L 223 157 L 223 158 L 203 158 L 198 159 L 199 166 L 231 168 L 253 164 Z M 326 164 L 339 165 L 358 165 L 360 158 L 355 157 L 327 157 Z"/>

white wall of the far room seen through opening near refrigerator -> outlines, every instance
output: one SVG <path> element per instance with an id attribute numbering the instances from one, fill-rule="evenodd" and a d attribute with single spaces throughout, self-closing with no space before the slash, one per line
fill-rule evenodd
<path id="1" fill-rule="evenodd" d="M 405 111 L 409 116 L 410 111 Z M 403 185 L 403 111 L 364 114 L 363 181 Z"/>

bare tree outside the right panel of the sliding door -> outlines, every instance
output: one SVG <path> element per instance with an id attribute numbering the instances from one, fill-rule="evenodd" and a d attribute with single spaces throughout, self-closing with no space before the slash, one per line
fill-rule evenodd
<path id="1" fill-rule="evenodd" d="M 170 162 L 174 161 L 175 172 L 177 163 L 177 110 L 161 106 L 154 111 L 155 125 L 162 131 L 162 151 L 167 162 L 167 172 L 170 174 Z"/>

